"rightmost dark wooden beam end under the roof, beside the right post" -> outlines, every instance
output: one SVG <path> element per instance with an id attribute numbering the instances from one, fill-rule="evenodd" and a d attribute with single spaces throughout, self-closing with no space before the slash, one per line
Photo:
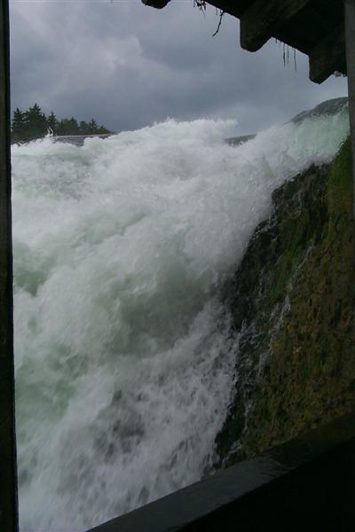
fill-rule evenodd
<path id="1" fill-rule="evenodd" d="M 341 24 L 310 52 L 310 79 L 324 82 L 336 70 L 342 71 L 345 57 L 345 34 Z M 345 74 L 345 73 L 343 73 Z"/>

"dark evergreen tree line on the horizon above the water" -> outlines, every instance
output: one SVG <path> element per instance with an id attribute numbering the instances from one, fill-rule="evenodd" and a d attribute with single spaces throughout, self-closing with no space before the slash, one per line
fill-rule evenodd
<path id="1" fill-rule="evenodd" d="M 90 122 L 78 122 L 72 116 L 72 118 L 58 120 L 53 112 L 46 116 L 37 104 L 29 107 L 27 111 L 21 111 L 17 107 L 12 118 L 12 142 L 28 142 L 35 138 L 45 137 L 48 133 L 53 135 L 102 135 L 111 132 L 104 126 L 99 126 L 94 119 Z"/>

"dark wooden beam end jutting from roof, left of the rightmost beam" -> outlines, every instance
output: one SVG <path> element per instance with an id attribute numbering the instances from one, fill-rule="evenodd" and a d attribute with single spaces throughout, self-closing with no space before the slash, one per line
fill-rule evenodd
<path id="1" fill-rule="evenodd" d="M 241 47 L 259 50 L 275 30 L 292 19 L 309 0 L 254 0 L 241 14 Z"/>

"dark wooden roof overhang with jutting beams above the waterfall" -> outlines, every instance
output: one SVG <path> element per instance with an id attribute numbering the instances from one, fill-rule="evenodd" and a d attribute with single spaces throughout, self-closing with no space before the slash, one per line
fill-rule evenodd
<path id="1" fill-rule="evenodd" d="M 162 9 L 178 0 L 142 0 Z M 241 22 L 241 47 L 259 50 L 274 37 L 309 56 L 312 82 L 346 74 L 343 0 L 208 0 Z"/>

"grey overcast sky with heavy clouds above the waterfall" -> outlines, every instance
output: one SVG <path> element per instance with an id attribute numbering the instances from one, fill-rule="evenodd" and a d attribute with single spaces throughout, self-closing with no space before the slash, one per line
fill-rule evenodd
<path id="1" fill-rule="evenodd" d="M 162 11 L 140 0 L 10 0 L 12 107 L 37 102 L 46 113 L 94 117 L 113 130 L 166 117 L 236 118 L 236 134 L 288 120 L 345 96 L 346 79 L 308 79 L 308 59 L 284 66 L 273 40 L 242 51 L 239 21 L 193 0 Z"/>

